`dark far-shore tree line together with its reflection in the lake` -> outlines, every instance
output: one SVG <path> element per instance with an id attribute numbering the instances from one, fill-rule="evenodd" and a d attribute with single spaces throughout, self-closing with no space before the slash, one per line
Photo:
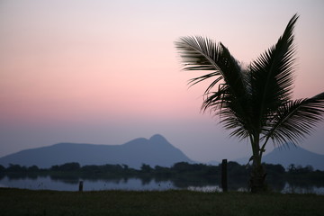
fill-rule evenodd
<path id="1" fill-rule="evenodd" d="M 263 164 L 267 171 L 267 184 L 276 191 L 284 189 L 286 183 L 295 186 L 308 187 L 324 186 L 324 171 L 314 170 L 312 166 L 288 166 Z M 252 166 L 239 165 L 237 162 L 228 163 L 229 190 L 247 188 L 249 172 Z M 105 181 L 128 181 L 138 178 L 142 184 L 171 181 L 178 188 L 188 186 L 204 186 L 219 184 L 221 180 L 221 164 L 211 166 L 205 164 L 189 164 L 187 162 L 175 163 L 173 166 L 149 166 L 142 164 L 138 169 L 127 165 L 86 165 L 72 162 L 55 165 L 49 168 L 38 166 L 20 166 L 10 164 L 7 167 L 0 165 L 0 179 L 7 176 L 9 179 L 37 179 L 39 176 L 49 176 L 53 180 L 73 182 L 77 184 L 80 179 Z"/>

